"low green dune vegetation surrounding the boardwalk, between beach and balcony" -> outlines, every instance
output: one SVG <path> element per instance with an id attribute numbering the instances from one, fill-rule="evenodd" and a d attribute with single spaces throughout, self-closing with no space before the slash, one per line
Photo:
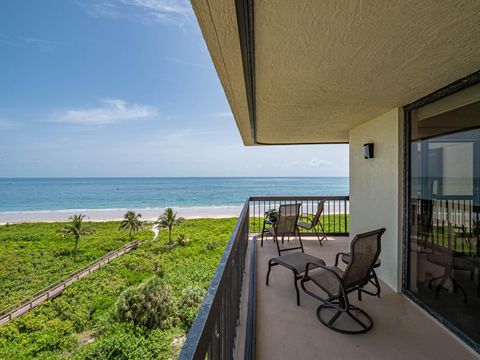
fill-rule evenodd
<path id="1" fill-rule="evenodd" d="M 197 311 L 196 308 L 182 310 L 183 291 L 192 286 L 208 288 L 235 223 L 235 218 L 186 220 L 174 227 L 173 238 L 185 234 L 190 241 L 172 249 L 165 246 L 167 231 L 161 231 L 156 241 L 144 242 L 75 282 L 61 296 L 0 327 L 0 358 L 175 358 Z M 73 243 L 64 243 L 55 234 L 58 224 L 1 226 L 1 246 L 10 248 L 9 255 L 2 254 L 3 258 L 15 257 L 20 264 L 19 273 L 14 274 L 12 264 L 5 266 L 0 262 L 2 274 L 8 269 L 5 278 L 9 279 L 8 288 L 12 289 L 10 301 L 4 303 L 47 285 L 129 241 L 126 235 L 117 232 L 118 224 L 92 224 L 97 234 L 83 239 L 75 263 L 71 263 L 73 257 L 69 252 Z M 151 235 L 153 233 L 144 231 L 137 238 L 151 238 Z M 67 268 L 63 264 L 67 264 Z M 26 274 L 21 274 L 22 269 Z M 38 277 L 36 287 L 25 284 L 32 275 Z M 121 294 L 156 276 L 168 284 L 177 304 L 173 325 L 147 329 L 113 320 L 115 303 Z M 6 288 L 3 282 L 2 286 Z"/>

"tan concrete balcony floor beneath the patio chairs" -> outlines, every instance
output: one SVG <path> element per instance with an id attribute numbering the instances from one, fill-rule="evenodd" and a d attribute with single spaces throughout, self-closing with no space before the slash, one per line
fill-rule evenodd
<path id="1" fill-rule="evenodd" d="M 305 252 L 333 265 L 335 254 L 348 251 L 349 239 L 330 237 L 304 241 Z M 317 300 L 300 290 L 301 305 L 295 301 L 292 273 L 282 266 L 272 268 L 270 285 L 265 285 L 268 260 L 276 256 L 269 238 L 257 241 L 257 359 L 478 359 L 470 348 L 404 295 L 381 283 L 382 297 L 363 295 L 353 304 L 367 311 L 374 321 L 370 332 L 344 335 L 323 326 L 317 319 Z"/>

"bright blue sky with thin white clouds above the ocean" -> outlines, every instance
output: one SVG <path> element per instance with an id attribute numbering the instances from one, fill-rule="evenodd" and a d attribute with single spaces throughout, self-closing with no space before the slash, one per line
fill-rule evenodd
<path id="1" fill-rule="evenodd" d="M 348 146 L 243 146 L 188 1 L 2 0 L 0 177 L 93 176 L 348 176 Z"/>

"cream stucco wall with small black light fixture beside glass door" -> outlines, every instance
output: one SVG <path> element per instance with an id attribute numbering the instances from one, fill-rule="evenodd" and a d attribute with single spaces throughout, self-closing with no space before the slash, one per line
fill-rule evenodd
<path id="1" fill-rule="evenodd" d="M 394 109 L 350 130 L 350 221 L 355 234 L 385 227 L 378 275 L 401 290 L 401 110 Z M 363 144 L 374 143 L 364 159 Z"/>

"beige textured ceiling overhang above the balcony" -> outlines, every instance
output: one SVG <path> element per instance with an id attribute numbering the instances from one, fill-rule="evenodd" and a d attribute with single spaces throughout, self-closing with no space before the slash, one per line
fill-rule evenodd
<path id="1" fill-rule="evenodd" d="M 347 142 L 480 68 L 478 0 L 254 0 L 252 124 L 235 1 L 192 4 L 246 145 Z"/>

